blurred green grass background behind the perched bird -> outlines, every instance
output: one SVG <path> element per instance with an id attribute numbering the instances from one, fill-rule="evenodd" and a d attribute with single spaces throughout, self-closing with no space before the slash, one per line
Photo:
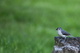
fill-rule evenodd
<path id="1" fill-rule="evenodd" d="M 80 36 L 80 0 L 0 0 L 0 53 L 51 53 L 57 27 Z"/>

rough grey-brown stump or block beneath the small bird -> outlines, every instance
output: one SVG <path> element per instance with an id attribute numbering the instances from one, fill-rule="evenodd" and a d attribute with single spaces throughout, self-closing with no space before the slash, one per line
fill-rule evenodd
<path id="1" fill-rule="evenodd" d="M 55 37 L 52 53 L 80 53 L 80 37 Z"/>

